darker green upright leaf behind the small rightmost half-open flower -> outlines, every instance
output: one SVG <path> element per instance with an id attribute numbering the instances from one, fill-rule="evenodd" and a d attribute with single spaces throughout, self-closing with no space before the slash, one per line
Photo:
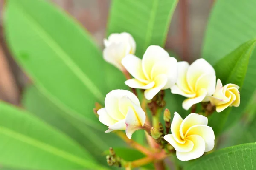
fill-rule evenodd
<path id="1" fill-rule="evenodd" d="M 245 42 L 215 64 L 216 76 L 221 79 L 224 85 L 233 83 L 239 85 L 240 88 L 242 87 L 255 43 L 256 39 Z M 213 113 L 209 118 L 209 125 L 215 131 L 215 135 L 221 132 L 229 114 L 235 114 L 233 113 L 233 109 L 232 113 L 230 111 L 231 108 L 227 108 L 221 113 Z"/>

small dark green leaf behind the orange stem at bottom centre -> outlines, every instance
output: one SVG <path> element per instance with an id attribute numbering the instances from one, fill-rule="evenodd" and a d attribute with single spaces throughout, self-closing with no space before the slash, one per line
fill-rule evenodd
<path id="1" fill-rule="evenodd" d="M 116 156 L 119 156 L 120 158 L 124 159 L 125 161 L 134 161 L 137 159 L 144 158 L 145 155 L 141 153 L 138 150 L 130 149 L 130 148 L 114 148 L 114 151 L 116 152 Z M 109 150 L 105 151 L 105 154 L 109 154 Z M 147 164 L 142 166 L 144 168 L 147 168 L 149 170 L 154 169 L 153 163 Z"/>

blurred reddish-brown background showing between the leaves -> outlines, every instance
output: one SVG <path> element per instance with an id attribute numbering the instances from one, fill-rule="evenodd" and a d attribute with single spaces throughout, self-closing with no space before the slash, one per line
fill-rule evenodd
<path id="1" fill-rule="evenodd" d="M 103 48 L 111 0 L 50 0 L 81 23 Z M 166 50 L 193 62 L 201 56 L 201 44 L 214 0 L 180 0 L 172 18 Z M 0 0 L 0 100 L 20 105 L 23 88 L 30 83 L 10 54 L 3 34 L 4 0 Z"/>

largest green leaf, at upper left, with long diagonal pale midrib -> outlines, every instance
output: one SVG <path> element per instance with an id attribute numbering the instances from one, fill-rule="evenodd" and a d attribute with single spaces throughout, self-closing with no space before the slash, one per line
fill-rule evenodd
<path id="1" fill-rule="evenodd" d="M 103 129 L 92 108 L 105 98 L 105 62 L 89 34 L 45 0 L 8 0 L 5 21 L 13 56 L 37 88 L 69 116 Z"/>

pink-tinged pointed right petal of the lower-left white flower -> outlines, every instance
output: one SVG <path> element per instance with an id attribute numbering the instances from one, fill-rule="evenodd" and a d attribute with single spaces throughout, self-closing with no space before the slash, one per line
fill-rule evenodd
<path id="1" fill-rule="evenodd" d="M 136 131 L 141 129 L 140 121 L 137 119 L 136 114 L 129 108 L 128 113 L 125 117 L 125 124 L 126 124 L 126 136 L 131 139 L 132 134 Z"/>

